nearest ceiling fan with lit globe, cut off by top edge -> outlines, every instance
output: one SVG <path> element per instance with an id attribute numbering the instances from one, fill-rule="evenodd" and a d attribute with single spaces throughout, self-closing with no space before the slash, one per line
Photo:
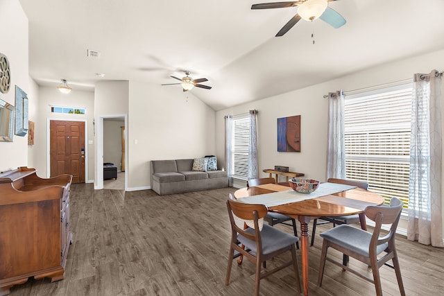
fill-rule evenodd
<path id="1" fill-rule="evenodd" d="M 328 6 L 328 2 L 336 0 L 300 0 L 300 1 L 288 1 L 288 2 L 273 2 L 273 3 L 260 3 L 253 4 L 251 9 L 268 9 L 268 8 L 287 8 L 298 6 L 298 13 L 285 24 L 276 37 L 280 37 L 287 33 L 294 25 L 305 19 L 307 21 L 314 21 L 315 19 L 322 19 L 327 24 L 330 24 L 333 28 L 339 28 L 343 26 L 347 21 Z"/>

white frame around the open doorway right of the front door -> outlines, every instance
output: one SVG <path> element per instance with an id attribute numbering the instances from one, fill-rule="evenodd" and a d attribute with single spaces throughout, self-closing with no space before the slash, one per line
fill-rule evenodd
<path id="1" fill-rule="evenodd" d="M 128 171 L 130 169 L 128 163 L 128 119 L 126 114 L 102 115 L 96 118 L 96 178 L 94 189 L 103 189 L 103 119 L 119 118 L 125 121 L 125 191 L 128 189 Z"/>

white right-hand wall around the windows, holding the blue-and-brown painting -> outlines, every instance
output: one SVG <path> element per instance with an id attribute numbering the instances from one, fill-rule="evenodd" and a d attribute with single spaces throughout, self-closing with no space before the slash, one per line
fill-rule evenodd
<path id="1" fill-rule="evenodd" d="M 257 124 L 260 171 L 275 165 L 289 166 L 290 171 L 305 173 L 306 177 L 325 181 L 328 104 L 323 96 L 339 89 L 348 92 L 413 78 L 413 73 L 429 73 L 432 69 L 443 70 L 443 56 L 444 51 L 436 51 L 416 58 L 382 64 L 354 75 L 216 112 L 216 153 L 223 155 L 224 150 L 223 116 L 256 109 L 259 110 Z M 301 152 L 278 153 L 277 119 L 292 115 L 301 116 Z M 261 177 L 265 176 L 265 173 L 261 173 Z"/>

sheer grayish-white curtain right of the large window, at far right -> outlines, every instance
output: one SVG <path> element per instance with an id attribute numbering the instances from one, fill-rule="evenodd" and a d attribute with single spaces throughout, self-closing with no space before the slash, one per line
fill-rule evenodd
<path id="1" fill-rule="evenodd" d="M 441 73 L 414 76 L 407 238 L 434 247 L 444 247 L 441 99 Z"/>

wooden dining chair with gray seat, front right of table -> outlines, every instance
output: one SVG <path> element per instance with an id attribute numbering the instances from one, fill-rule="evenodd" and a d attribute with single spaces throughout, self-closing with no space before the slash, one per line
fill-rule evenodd
<path id="1" fill-rule="evenodd" d="M 392 198 L 390 206 L 370 206 L 366 207 L 364 214 L 375 221 L 375 229 L 373 234 L 363 229 L 352 227 L 351 225 L 339 225 L 327 230 L 321 234 L 323 238 L 321 265 L 319 265 L 318 286 L 321 286 L 324 275 L 325 261 L 341 266 L 343 270 L 348 270 L 353 274 L 370 281 L 375 284 L 376 295 L 382 295 L 381 279 L 379 277 L 379 268 L 382 265 L 388 265 L 386 262 L 393 261 L 396 279 L 400 288 L 401 295 L 405 295 L 404 285 L 402 284 L 400 264 L 398 261 L 398 253 L 395 247 L 395 231 L 398 227 L 400 215 L 402 211 L 402 202 L 398 198 Z M 382 225 L 391 225 L 388 234 L 381 235 Z M 347 266 L 347 262 L 342 264 L 330 257 L 327 257 L 327 249 L 333 247 L 342 252 L 344 255 L 355 258 L 366 263 L 373 272 L 373 279 L 363 275 L 357 270 Z M 385 254 L 383 254 L 385 252 Z M 378 258 L 379 256 L 379 258 Z"/>

